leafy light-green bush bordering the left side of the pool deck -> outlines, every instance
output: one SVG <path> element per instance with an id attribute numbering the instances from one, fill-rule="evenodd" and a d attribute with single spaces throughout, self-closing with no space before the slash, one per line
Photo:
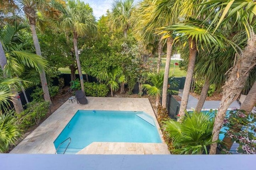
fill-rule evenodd
<path id="1" fill-rule="evenodd" d="M 33 125 L 38 125 L 43 117 L 46 116 L 50 103 L 48 101 L 32 101 L 28 103 L 27 109 L 19 114 L 16 114 L 21 121 L 21 127 L 28 128 Z"/>

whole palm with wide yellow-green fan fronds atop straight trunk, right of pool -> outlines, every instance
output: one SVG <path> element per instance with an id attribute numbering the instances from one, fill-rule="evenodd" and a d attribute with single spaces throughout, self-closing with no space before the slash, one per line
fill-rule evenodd
<path id="1" fill-rule="evenodd" d="M 197 22 L 200 23 L 200 21 L 197 21 Z M 203 48 L 203 44 L 205 44 L 208 46 L 209 49 L 212 48 L 213 45 L 216 45 L 217 47 L 222 48 L 223 47 L 222 39 L 224 39 L 224 37 L 217 32 L 215 35 L 212 35 L 210 30 L 206 29 L 204 25 L 196 26 L 195 24 L 189 24 L 189 23 L 186 25 L 184 24 L 170 25 L 170 26 L 163 27 L 162 29 L 170 32 L 174 31 L 173 34 L 177 35 L 175 41 L 181 39 L 182 37 L 186 37 L 186 39 L 188 39 L 188 46 L 189 46 L 188 69 L 187 69 L 186 81 L 184 84 L 184 90 L 182 94 L 182 100 L 181 100 L 180 111 L 179 111 L 179 115 L 184 116 L 186 106 L 188 103 L 188 96 L 189 96 L 190 85 L 193 77 L 198 47 Z M 209 49 L 206 49 L 206 50 L 209 50 Z"/>

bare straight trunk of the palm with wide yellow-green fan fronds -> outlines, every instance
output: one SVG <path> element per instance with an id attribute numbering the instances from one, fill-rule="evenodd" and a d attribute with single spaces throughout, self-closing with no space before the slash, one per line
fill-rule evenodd
<path id="1" fill-rule="evenodd" d="M 186 80 L 184 84 L 184 90 L 182 93 L 182 99 L 180 103 L 180 111 L 179 111 L 180 117 L 183 117 L 185 115 L 185 110 L 188 105 L 188 96 L 189 96 L 191 81 L 193 78 L 193 72 L 194 72 L 194 67 L 196 63 L 196 54 L 197 54 L 196 41 L 191 37 L 188 39 L 188 41 L 189 41 L 189 61 L 188 61 L 188 70 L 187 70 Z"/>

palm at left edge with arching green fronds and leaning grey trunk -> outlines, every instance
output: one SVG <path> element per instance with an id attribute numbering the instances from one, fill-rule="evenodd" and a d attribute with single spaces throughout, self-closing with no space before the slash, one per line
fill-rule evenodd
<path id="1" fill-rule="evenodd" d="M 47 62 L 42 57 L 25 50 L 29 45 L 22 43 L 22 39 L 18 31 L 24 29 L 24 25 L 15 23 L 14 26 L 6 25 L 0 32 L 0 40 L 4 42 L 4 58 L 1 57 L 1 68 L 5 77 L 18 77 L 24 72 L 24 66 L 36 68 L 38 72 L 47 66 Z M 16 94 L 12 97 L 12 102 L 17 113 L 23 111 L 21 100 L 19 99 L 16 89 L 10 86 L 12 92 Z M 24 90 L 23 86 L 21 86 Z M 25 94 L 24 94 L 25 95 Z"/>

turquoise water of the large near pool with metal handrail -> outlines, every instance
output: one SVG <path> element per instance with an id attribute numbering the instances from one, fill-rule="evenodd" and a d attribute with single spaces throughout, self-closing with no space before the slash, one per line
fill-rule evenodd
<path id="1" fill-rule="evenodd" d="M 54 141 L 55 148 L 68 137 L 65 154 L 75 154 L 92 142 L 162 143 L 154 119 L 142 111 L 78 110 Z"/>

